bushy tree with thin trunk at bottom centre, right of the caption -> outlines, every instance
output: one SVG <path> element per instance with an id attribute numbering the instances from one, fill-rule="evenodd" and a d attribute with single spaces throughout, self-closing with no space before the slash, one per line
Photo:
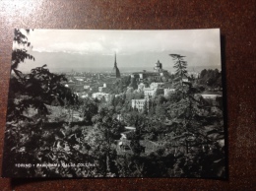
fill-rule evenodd
<path id="1" fill-rule="evenodd" d="M 113 108 L 100 107 L 98 109 L 98 113 L 93 117 L 95 125 L 92 133 L 86 138 L 99 163 L 98 170 L 103 176 L 116 173 L 112 162 L 116 159 L 114 154 L 116 151 L 112 144 L 114 140 L 120 139 L 120 132 L 124 129 L 123 124 L 113 117 Z"/>

